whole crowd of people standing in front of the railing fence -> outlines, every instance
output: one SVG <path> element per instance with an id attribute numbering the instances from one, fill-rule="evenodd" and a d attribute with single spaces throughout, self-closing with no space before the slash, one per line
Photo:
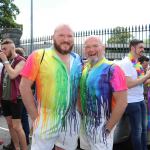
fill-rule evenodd
<path id="1" fill-rule="evenodd" d="M 126 114 L 133 150 L 147 150 L 150 70 L 143 41 L 133 39 L 117 65 L 105 58 L 97 36 L 84 41 L 86 61 L 73 52 L 70 26 L 57 26 L 52 38 L 53 46 L 35 50 L 27 59 L 11 39 L 1 42 L 0 104 L 11 149 L 27 150 L 29 114 L 31 150 L 75 150 L 78 140 L 83 150 L 112 150 L 115 127 Z"/>

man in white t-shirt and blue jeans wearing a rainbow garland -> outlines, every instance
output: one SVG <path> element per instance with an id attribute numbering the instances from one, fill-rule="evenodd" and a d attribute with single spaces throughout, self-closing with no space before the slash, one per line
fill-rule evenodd
<path id="1" fill-rule="evenodd" d="M 128 106 L 126 114 L 131 125 L 131 140 L 134 150 L 147 150 L 146 144 L 146 106 L 143 95 L 143 83 L 150 78 L 150 71 L 144 74 L 138 58 L 143 55 L 144 43 L 133 39 L 129 45 L 130 52 L 121 61 L 128 86 Z"/>

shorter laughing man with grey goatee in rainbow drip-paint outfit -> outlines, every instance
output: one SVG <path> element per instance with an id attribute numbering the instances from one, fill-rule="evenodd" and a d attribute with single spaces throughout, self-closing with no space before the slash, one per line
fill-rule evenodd
<path id="1" fill-rule="evenodd" d="M 119 66 L 104 57 L 105 46 L 99 37 L 88 37 L 84 50 L 88 62 L 80 80 L 80 147 L 112 150 L 114 127 L 127 106 L 125 76 Z"/>

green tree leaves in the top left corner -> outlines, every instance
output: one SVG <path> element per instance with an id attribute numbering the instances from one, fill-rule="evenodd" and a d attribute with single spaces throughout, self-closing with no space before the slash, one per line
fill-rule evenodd
<path id="1" fill-rule="evenodd" d="M 13 3 L 14 0 L 0 0 L 0 28 L 21 28 L 16 23 L 16 16 L 20 13 L 19 8 Z"/>

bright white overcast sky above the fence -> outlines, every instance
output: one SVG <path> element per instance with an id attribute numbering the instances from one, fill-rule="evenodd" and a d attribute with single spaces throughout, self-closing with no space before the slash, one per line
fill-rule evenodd
<path id="1" fill-rule="evenodd" d="M 14 0 L 23 24 L 22 39 L 30 38 L 31 0 Z M 33 35 L 48 36 L 60 23 L 74 31 L 150 23 L 149 0 L 33 0 Z"/>

